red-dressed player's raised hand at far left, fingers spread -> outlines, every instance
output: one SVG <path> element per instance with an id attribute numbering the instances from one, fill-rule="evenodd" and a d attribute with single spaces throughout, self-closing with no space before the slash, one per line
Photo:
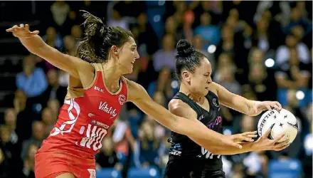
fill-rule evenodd
<path id="1" fill-rule="evenodd" d="M 17 38 L 31 38 L 32 36 L 38 35 L 39 31 L 29 31 L 28 24 L 24 25 L 21 23 L 19 26 L 15 25 L 11 28 L 6 29 L 6 32 L 12 32 Z"/>

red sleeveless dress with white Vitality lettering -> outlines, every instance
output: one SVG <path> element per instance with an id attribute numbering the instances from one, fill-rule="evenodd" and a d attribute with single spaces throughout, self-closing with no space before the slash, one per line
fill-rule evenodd
<path id="1" fill-rule="evenodd" d="M 105 88 L 102 67 L 96 69 L 93 84 L 78 98 L 65 100 L 58 121 L 36 153 L 38 178 L 70 172 L 75 177 L 95 177 L 95 154 L 103 137 L 127 101 L 127 85 L 110 93 Z"/>

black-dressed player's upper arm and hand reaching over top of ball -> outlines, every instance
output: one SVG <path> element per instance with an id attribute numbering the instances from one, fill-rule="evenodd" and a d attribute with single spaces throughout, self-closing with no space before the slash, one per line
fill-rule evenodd
<path id="1" fill-rule="evenodd" d="M 282 105 L 277 101 L 256 101 L 248 100 L 240 95 L 231 93 L 222 85 L 218 83 L 211 83 L 213 88 L 217 90 L 218 100 L 228 108 L 237 110 L 245 115 L 255 116 L 259 115 L 263 110 L 272 110 L 276 108 L 278 110 L 282 109 Z"/>

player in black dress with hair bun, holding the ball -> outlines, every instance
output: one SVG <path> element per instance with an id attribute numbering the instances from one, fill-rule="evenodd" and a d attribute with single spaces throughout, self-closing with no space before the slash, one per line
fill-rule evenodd
<path id="1" fill-rule="evenodd" d="M 203 53 L 196 51 L 186 40 L 177 43 L 176 75 L 180 80 L 180 90 L 169 103 L 170 112 L 190 120 L 200 120 L 209 129 L 222 133 L 220 103 L 246 115 L 259 115 L 262 110 L 282 107 L 271 101 L 247 100 L 230 93 L 211 80 L 211 63 Z M 203 178 L 225 177 L 222 169 L 221 155 L 235 155 L 242 152 L 260 150 L 283 150 L 289 145 L 286 142 L 276 143 L 267 138 L 267 133 L 255 142 L 243 143 L 242 149 L 235 147 L 211 147 L 205 150 L 185 135 L 171 132 L 169 142 L 169 162 L 166 165 L 164 178 Z M 196 141 L 196 140 L 194 140 Z"/>

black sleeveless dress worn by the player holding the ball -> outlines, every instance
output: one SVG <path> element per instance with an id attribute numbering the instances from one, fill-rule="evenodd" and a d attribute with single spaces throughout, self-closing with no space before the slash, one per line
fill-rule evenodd
<path id="1" fill-rule="evenodd" d="M 209 129 L 223 133 L 220 105 L 216 94 L 208 91 L 206 95 L 210 105 L 209 111 L 184 93 L 177 93 L 174 99 L 182 100 L 188 104 L 196 112 L 198 120 Z M 180 135 L 176 132 L 171 132 L 169 142 L 171 142 L 169 162 L 166 164 L 164 178 L 225 177 L 221 155 L 212 155 L 211 152 L 197 145 L 186 135 Z"/>

